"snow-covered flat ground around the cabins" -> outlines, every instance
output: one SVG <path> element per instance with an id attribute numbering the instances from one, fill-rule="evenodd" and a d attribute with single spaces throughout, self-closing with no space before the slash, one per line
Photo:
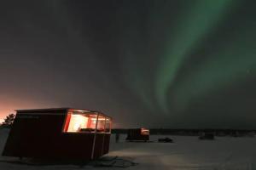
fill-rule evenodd
<path id="1" fill-rule="evenodd" d="M 0 152 L 8 136 L 8 130 L 0 129 Z M 108 157 L 119 156 L 137 163 L 125 169 L 170 169 L 170 170 L 256 170 L 256 138 L 219 137 L 213 141 L 197 137 L 169 136 L 173 144 L 156 143 L 160 137 L 151 135 L 152 143 L 126 143 L 125 135 L 118 144 L 112 137 Z M 1 156 L 0 160 L 7 160 Z M 12 158 L 13 159 L 13 158 Z M 1 170 L 9 169 L 120 169 L 122 167 L 79 167 L 76 165 L 32 166 L 0 161 Z"/>

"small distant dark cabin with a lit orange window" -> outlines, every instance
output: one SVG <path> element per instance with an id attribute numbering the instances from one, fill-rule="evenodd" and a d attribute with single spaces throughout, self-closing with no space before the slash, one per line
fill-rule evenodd
<path id="1" fill-rule="evenodd" d="M 129 141 L 148 141 L 149 130 L 146 128 L 132 128 L 128 129 L 127 138 Z"/>

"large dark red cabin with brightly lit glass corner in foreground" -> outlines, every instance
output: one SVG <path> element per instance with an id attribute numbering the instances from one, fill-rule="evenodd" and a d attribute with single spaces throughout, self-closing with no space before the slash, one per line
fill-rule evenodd
<path id="1" fill-rule="evenodd" d="M 111 117 L 70 108 L 19 110 L 3 156 L 92 160 L 108 153 Z"/>

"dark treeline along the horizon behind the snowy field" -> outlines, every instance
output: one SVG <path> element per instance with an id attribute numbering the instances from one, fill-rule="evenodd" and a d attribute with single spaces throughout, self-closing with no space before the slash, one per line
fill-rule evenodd
<path id="1" fill-rule="evenodd" d="M 115 128 L 112 133 L 127 133 L 128 129 Z M 151 128 L 150 134 L 164 135 L 184 135 L 184 136 L 199 136 L 201 133 L 214 133 L 215 136 L 253 136 L 256 130 L 248 129 L 168 129 L 168 128 Z"/>

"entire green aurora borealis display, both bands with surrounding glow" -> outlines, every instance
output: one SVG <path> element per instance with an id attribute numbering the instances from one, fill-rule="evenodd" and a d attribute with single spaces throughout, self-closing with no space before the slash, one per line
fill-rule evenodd
<path id="1" fill-rule="evenodd" d="M 147 46 L 146 48 L 142 47 L 150 51 L 148 56 L 143 58 L 142 55 L 147 54 L 139 54 L 140 47 L 137 47 L 137 43 L 143 42 L 138 42 L 140 32 L 137 30 L 137 25 L 135 28 L 129 27 L 132 35 L 128 34 L 127 39 L 133 37 L 137 40 L 131 39 L 133 46 L 128 45 L 133 48 L 127 49 L 126 52 L 123 63 L 125 75 L 128 77 L 127 83 L 131 84 L 131 88 L 147 105 L 148 110 L 172 114 L 173 110 L 170 107 L 174 106 L 181 107 L 177 110 L 182 111 L 189 105 L 188 102 L 192 98 L 208 95 L 214 89 L 244 81 L 248 74 L 255 74 L 256 58 L 253 41 L 256 33 L 253 30 L 254 25 L 250 28 L 253 24 L 251 20 L 245 21 L 244 26 L 236 25 L 235 28 L 230 26 L 229 29 L 233 30 L 224 33 L 219 31 L 220 27 L 224 27 L 227 20 L 233 17 L 232 14 L 236 14 L 240 4 L 241 1 L 230 0 L 179 3 L 179 7 L 183 10 L 177 11 L 177 18 L 172 20 L 172 24 L 168 27 L 171 33 L 165 27 L 167 38 L 165 43 L 160 42 L 162 51 L 154 54 L 158 58 L 154 60 L 154 65 L 146 60 L 150 60 L 152 55 L 148 44 L 144 45 Z M 168 5 L 167 2 L 166 5 Z M 154 3 L 152 6 L 150 12 L 159 16 L 149 14 L 151 18 L 147 20 L 147 25 L 166 25 L 166 20 L 162 17 L 166 17 L 168 11 L 160 10 L 168 10 L 168 8 L 158 8 L 155 12 L 157 4 Z M 150 38 L 155 38 L 154 32 L 157 31 L 159 31 L 158 27 L 152 26 L 149 32 L 145 33 L 149 36 L 147 37 L 149 43 L 154 41 Z M 214 39 L 215 34 L 219 34 L 218 39 Z M 127 39 L 125 39 L 126 42 Z M 144 41 L 144 43 L 148 42 Z M 126 43 L 125 46 L 127 46 Z M 198 57 L 196 55 L 201 55 L 205 58 L 201 59 L 204 61 L 197 65 L 193 64 L 193 69 L 179 80 L 177 78 L 179 72 L 182 71 L 186 62 L 190 62 L 189 59 L 196 60 Z M 175 98 L 176 105 L 172 105 L 172 101 L 170 103 L 170 97 Z"/>

